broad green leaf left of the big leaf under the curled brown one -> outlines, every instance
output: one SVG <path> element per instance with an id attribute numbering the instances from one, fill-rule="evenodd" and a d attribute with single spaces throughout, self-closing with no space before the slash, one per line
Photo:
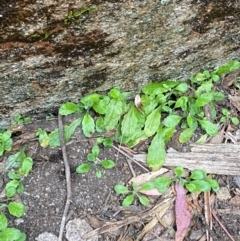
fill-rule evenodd
<path id="1" fill-rule="evenodd" d="M 114 129 L 123 114 L 124 102 L 117 99 L 112 99 L 107 106 L 106 115 L 104 117 L 104 126 L 107 131 Z"/>

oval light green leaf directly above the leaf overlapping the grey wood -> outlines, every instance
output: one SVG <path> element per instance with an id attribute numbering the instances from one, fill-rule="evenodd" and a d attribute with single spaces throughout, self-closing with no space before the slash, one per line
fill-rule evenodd
<path id="1" fill-rule="evenodd" d="M 155 109 L 150 115 L 147 116 L 144 132 L 146 136 L 154 135 L 160 126 L 161 114 L 159 108 Z"/>

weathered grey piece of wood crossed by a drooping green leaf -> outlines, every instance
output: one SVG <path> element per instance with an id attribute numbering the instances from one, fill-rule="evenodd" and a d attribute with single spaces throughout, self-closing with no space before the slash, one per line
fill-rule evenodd
<path id="1" fill-rule="evenodd" d="M 146 154 L 137 154 L 133 158 L 146 161 Z M 191 152 L 185 153 L 170 148 L 164 166 L 182 166 L 189 170 L 203 169 L 207 173 L 219 175 L 239 175 L 240 145 L 192 145 Z"/>

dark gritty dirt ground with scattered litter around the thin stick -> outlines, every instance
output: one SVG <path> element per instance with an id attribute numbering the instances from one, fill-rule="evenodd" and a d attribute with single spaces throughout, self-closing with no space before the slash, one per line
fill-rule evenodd
<path id="1" fill-rule="evenodd" d="M 70 119 L 64 119 L 65 124 L 70 121 Z M 36 130 L 39 127 L 52 131 L 58 127 L 57 118 L 32 121 L 30 124 L 20 126 L 14 133 L 13 151 L 20 150 L 27 145 L 27 154 L 33 158 L 34 167 L 30 175 L 24 180 L 24 193 L 16 197 L 26 205 L 26 213 L 22 218 L 12 220 L 9 226 L 17 226 L 27 234 L 27 240 L 29 241 L 34 241 L 40 233 L 46 231 L 58 235 L 66 200 L 66 182 L 61 148 L 42 148 L 35 137 Z M 135 202 L 128 209 L 121 207 L 122 197 L 115 194 L 113 186 L 118 183 L 126 184 L 132 178 L 132 174 L 126 162 L 126 157 L 114 148 L 101 149 L 100 159 L 107 158 L 116 161 L 116 167 L 104 171 L 101 178 L 95 176 L 94 169 L 84 175 L 77 174 L 75 169 L 79 164 L 86 162 L 86 156 L 93 141 L 94 138 L 86 139 L 77 129 L 67 143 L 72 184 L 72 202 L 68 220 L 82 218 L 95 229 L 107 222 L 126 220 L 136 214 L 141 217 L 142 211 L 149 210 L 163 199 L 163 197 L 151 198 L 150 207 L 143 207 L 138 202 Z M 144 145 L 135 149 L 137 153 L 145 150 L 146 146 Z M 6 158 L 2 158 L 1 162 L 5 160 Z M 136 164 L 133 163 L 132 167 L 137 175 L 144 173 Z M 2 174 L 2 178 L 4 182 L 7 181 L 6 174 Z M 213 201 L 216 215 L 234 240 L 240 240 L 239 179 L 232 176 L 216 176 L 215 178 L 221 186 L 220 194 L 217 198 L 215 196 Z M 188 194 L 188 197 L 190 196 Z M 236 201 L 237 198 L 238 201 Z M 197 204 L 195 201 L 191 205 L 193 215 L 191 228 L 184 239 L 187 241 L 206 240 L 204 234 L 207 225 L 203 213 L 203 194 L 198 195 Z M 166 212 L 167 222 L 170 222 L 168 227 L 163 228 L 158 224 L 141 240 L 171 240 L 169 230 L 170 228 L 176 228 L 172 208 L 169 208 Z M 119 229 L 118 232 L 99 235 L 98 240 L 136 240 L 146 223 L 147 220 L 130 223 Z M 213 228 L 209 232 L 213 240 L 230 240 L 214 218 Z"/>

